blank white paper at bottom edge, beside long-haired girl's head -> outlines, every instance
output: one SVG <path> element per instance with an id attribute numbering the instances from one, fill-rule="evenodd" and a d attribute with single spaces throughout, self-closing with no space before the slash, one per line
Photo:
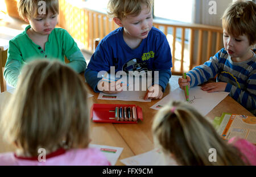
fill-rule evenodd
<path id="1" fill-rule="evenodd" d="M 159 149 L 153 149 L 147 153 L 135 155 L 133 157 L 122 159 L 121 162 L 127 166 L 159 166 L 159 165 L 177 165 L 174 159 L 168 158 Z"/>

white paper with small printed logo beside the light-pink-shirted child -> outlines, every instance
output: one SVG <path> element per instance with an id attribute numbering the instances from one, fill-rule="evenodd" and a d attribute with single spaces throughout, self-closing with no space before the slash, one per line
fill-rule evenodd
<path id="1" fill-rule="evenodd" d="M 100 149 L 100 151 L 106 156 L 111 165 L 115 165 L 115 163 L 117 163 L 117 160 L 123 151 L 123 147 L 113 147 L 94 144 L 89 144 L 89 147 Z"/>

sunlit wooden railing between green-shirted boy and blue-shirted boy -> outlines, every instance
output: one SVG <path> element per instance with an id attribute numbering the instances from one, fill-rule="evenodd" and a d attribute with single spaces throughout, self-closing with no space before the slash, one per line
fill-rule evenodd
<path id="1" fill-rule="evenodd" d="M 93 52 L 95 40 L 103 39 L 118 26 L 106 14 L 79 5 L 83 3 L 59 0 L 58 26 L 67 29 L 72 37 L 84 44 L 86 50 Z"/>

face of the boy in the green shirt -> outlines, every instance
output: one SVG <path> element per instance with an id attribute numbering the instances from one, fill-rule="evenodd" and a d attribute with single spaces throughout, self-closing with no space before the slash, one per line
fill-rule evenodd
<path id="1" fill-rule="evenodd" d="M 38 15 L 28 20 L 31 28 L 40 35 L 49 35 L 57 24 L 57 14 Z"/>

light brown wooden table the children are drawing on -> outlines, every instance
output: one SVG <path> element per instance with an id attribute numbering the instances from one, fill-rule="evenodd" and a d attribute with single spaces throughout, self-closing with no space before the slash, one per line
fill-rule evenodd
<path id="1" fill-rule="evenodd" d="M 81 75 L 83 77 L 83 75 Z M 86 83 L 86 86 L 87 83 Z M 171 90 L 177 88 L 177 83 L 170 80 L 164 96 L 169 94 Z M 90 103 L 106 103 L 106 104 L 126 104 L 125 101 L 109 101 L 98 100 L 98 93 L 93 92 L 92 88 L 88 86 L 88 91 L 94 96 L 89 98 Z M 0 94 L 0 110 L 1 105 L 5 105 L 5 99 L 9 99 L 11 94 L 9 92 L 3 92 Z M 154 143 L 151 133 L 151 125 L 154 119 L 154 115 L 157 112 L 155 109 L 150 109 L 159 100 L 152 100 L 151 102 L 129 102 L 129 104 L 136 104 L 142 107 L 143 121 L 139 121 L 138 124 L 109 124 L 109 123 L 91 123 L 90 137 L 92 138 L 92 144 L 107 145 L 123 147 L 123 151 L 120 159 L 146 153 L 154 149 Z M 215 116 L 221 116 L 222 112 L 237 113 L 242 115 L 253 116 L 249 111 L 243 108 L 233 98 L 227 96 L 222 102 L 220 102 L 212 111 L 207 115 L 209 119 L 214 119 Z M 14 147 L 7 145 L 3 142 L 0 134 L 0 153 L 6 151 L 13 151 Z M 116 165 L 123 165 L 120 161 L 117 161 Z"/>

